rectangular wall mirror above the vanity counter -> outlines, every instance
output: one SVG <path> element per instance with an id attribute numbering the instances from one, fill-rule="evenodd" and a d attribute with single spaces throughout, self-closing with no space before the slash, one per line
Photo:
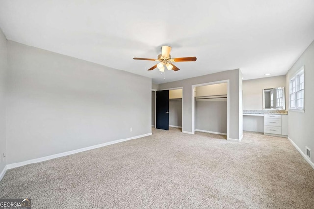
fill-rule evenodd
<path id="1" fill-rule="evenodd" d="M 263 110 L 285 109 L 285 87 L 263 89 Z"/>

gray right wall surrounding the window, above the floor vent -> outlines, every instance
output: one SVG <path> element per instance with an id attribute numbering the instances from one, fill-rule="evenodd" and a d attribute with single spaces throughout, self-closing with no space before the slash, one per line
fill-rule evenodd
<path id="1" fill-rule="evenodd" d="M 304 107 L 305 112 L 288 112 L 288 136 L 301 149 L 305 150 L 308 146 L 312 150 L 312 159 L 314 162 L 314 41 L 304 51 L 301 57 L 296 61 L 292 68 L 286 74 L 286 86 L 289 87 L 289 81 L 294 73 L 304 65 Z M 288 88 L 287 88 L 288 89 Z M 289 93 L 286 91 L 286 106 L 288 107 Z"/>

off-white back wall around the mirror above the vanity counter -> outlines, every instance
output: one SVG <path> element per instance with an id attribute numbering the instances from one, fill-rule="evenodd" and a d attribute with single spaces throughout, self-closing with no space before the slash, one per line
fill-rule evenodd
<path id="1" fill-rule="evenodd" d="M 274 76 L 243 81 L 243 110 L 263 109 L 263 89 L 286 87 L 286 76 Z M 288 91 L 285 88 L 285 92 Z M 286 103 L 287 104 L 287 103 Z M 287 107 L 286 107 L 287 109 Z"/>

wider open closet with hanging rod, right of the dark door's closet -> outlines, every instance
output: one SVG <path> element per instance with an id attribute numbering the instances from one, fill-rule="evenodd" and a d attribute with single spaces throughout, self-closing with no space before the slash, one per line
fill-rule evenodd
<path id="1" fill-rule="evenodd" d="M 229 136 L 229 80 L 192 86 L 192 133 Z"/>

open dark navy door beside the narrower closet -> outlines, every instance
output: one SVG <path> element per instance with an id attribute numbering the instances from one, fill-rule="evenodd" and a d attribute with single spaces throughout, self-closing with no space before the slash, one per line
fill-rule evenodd
<path id="1" fill-rule="evenodd" d="M 156 128 L 169 130 L 169 90 L 156 92 Z"/>

